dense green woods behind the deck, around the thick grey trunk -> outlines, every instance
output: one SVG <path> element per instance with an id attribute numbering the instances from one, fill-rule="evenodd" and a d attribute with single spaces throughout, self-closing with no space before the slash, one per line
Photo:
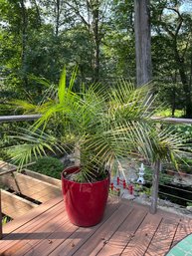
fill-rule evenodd
<path id="1" fill-rule="evenodd" d="M 191 4 L 143 2 L 150 9 L 159 100 L 166 101 L 172 116 L 181 110 L 192 118 Z M 109 84 L 120 77 L 135 81 L 134 1 L 1 0 L 0 17 L 1 102 L 39 102 L 58 83 L 64 65 L 68 70 L 78 65 L 79 79 L 87 84 Z M 46 78 L 45 83 L 37 77 Z"/>

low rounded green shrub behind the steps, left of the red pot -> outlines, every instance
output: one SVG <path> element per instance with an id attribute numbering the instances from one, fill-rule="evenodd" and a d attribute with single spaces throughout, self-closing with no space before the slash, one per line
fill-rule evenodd
<path id="1" fill-rule="evenodd" d="M 30 169 L 60 179 L 64 164 L 55 157 L 47 156 L 39 158 Z"/>

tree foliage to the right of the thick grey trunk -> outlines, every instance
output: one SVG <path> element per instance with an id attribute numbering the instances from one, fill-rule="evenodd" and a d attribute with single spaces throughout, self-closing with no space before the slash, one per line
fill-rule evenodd
<path id="1" fill-rule="evenodd" d="M 163 102 L 174 111 L 191 108 L 191 24 L 192 16 L 181 8 L 184 1 L 151 1 L 153 71 Z"/>

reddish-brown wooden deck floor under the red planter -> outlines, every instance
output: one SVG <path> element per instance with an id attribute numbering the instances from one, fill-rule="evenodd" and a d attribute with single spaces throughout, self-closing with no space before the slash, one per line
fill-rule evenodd
<path id="1" fill-rule="evenodd" d="M 108 201 L 101 223 L 82 228 L 68 220 L 61 197 L 4 226 L 1 256 L 161 256 L 192 232 L 192 219 L 123 200 Z"/>

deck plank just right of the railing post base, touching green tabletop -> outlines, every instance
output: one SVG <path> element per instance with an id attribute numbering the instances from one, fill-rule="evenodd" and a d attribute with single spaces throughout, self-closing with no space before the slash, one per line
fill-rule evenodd
<path id="1" fill-rule="evenodd" d="M 171 247 L 173 237 L 179 224 L 178 221 L 163 218 L 144 254 L 145 256 L 155 255 L 156 252 L 158 252 L 158 256 L 164 256 L 166 254 Z"/>

